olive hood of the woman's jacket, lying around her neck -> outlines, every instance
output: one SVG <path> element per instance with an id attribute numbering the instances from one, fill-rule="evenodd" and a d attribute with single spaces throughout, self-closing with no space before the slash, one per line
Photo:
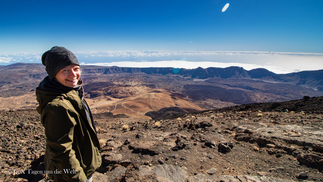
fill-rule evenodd
<path id="1" fill-rule="evenodd" d="M 68 93 L 54 93 L 54 92 L 47 92 L 43 90 L 39 90 L 36 88 L 36 100 L 39 103 L 36 110 L 39 114 L 42 113 L 43 108 L 54 99 L 68 99 L 72 100 L 80 100 L 78 94 L 75 90 L 69 91 Z"/>

